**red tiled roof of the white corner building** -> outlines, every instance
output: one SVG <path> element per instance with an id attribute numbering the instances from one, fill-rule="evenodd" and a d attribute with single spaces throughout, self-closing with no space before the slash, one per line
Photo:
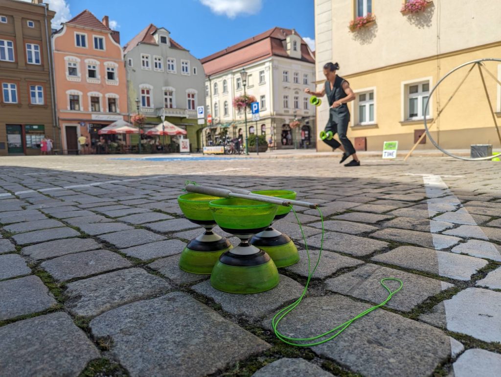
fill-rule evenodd
<path id="1" fill-rule="evenodd" d="M 205 74 L 209 76 L 229 69 L 238 68 L 249 63 L 254 63 L 274 55 L 290 58 L 284 48 L 283 41 L 293 33 L 301 38 L 297 32 L 293 32 L 290 29 L 273 28 L 200 59 L 200 62 L 203 65 Z M 301 39 L 301 60 L 315 63 L 312 52 L 303 39 Z"/>

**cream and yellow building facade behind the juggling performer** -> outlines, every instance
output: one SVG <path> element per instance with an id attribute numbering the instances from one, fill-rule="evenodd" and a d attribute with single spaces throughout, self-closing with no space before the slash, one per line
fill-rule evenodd
<path id="1" fill-rule="evenodd" d="M 384 141 L 393 140 L 399 142 L 399 149 L 410 149 L 424 131 L 426 118 L 434 140 L 445 149 L 471 144 L 501 147 L 478 66 L 468 75 L 472 66 L 447 77 L 425 112 L 430 92 L 450 70 L 476 59 L 501 58 L 497 26 L 501 2 L 433 0 L 418 13 L 401 12 L 402 6 L 394 0 L 315 1 L 316 84 L 319 89 L 324 85 L 325 63 L 339 63 L 339 76 L 349 81 L 356 94 L 349 104 L 348 137 L 358 150 L 382 150 Z M 375 21 L 349 30 L 351 20 L 368 13 Z M 499 124 L 501 86 L 487 71 L 501 81 L 501 62 L 483 64 L 486 90 Z M 317 108 L 319 132 L 328 117 L 328 103 L 323 101 Z M 434 148 L 424 141 L 418 149 Z M 331 150 L 320 140 L 317 145 L 319 151 Z"/>

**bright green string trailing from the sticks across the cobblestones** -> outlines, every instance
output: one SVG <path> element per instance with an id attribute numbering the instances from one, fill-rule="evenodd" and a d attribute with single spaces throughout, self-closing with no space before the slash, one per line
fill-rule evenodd
<path id="1" fill-rule="evenodd" d="M 353 317 L 352 319 L 350 320 L 347 320 L 346 322 L 340 324 L 339 326 L 337 327 L 334 327 L 333 329 L 329 330 L 329 331 L 326 331 L 324 332 L 323 334 L 320 334 L 320 335 L 317 335 L 317 336 L 312 336 L 312 337 L 309 337 L 309 338 L 293 338 L 293 337 L 290 337 L 290 336 L 286 336 L 284 334 L 282 334 L 278 329 L 277 329 L 277 326 L 279 325 L 280 321 L 287 315 L 289 314 L 292 310 L 294 310 L 296 308 L 296 306 L 298 306 L 300 304 L 300 302 L 303 300 L 305 294 L 306 294 L 306 291 L 308 290 L 308 285 L 310 284 L 310 280 L 313 276 L 313 274 L 315 273 L 315 270 L 317 269 L 318 267 L 318 264 L 320 262 L 320 257 L 322 255 L 322 250 L 323 250 L 323 247 L 324 247 L 324 235 L 325 235 L 325 228 L 324 228 L 324 216 L 322 215 L 322 211 L 320 210 L 320 208 L 317 208 L 318 212 L 320 213 L 320 219 L 322 220 L 322 240 L 320 242 L 320 252 L 319 252 L 319 255 L 318 255 L 318 260 L 317 260 L 317 264 L 315 264 L 315 268 L 313 268 L 313 271 L 311 270 L 311 260 L 310 260 L 310 252 L 308 250 L 308 243 L 306 242 L 306 236 L 305 236 L 305 233 L 303 232 L 303 227 L 301 226 L 301 222 L 299 221 L 299 218 L 298 218 L 298 214 L 296 213 L 296 211 L 294 210 L 294 208 L 292 207 L 292 205 L 290 206 L 292 208 L 292 211 L 294 212 L 294 216 L 296 216 L 296 220 L 298 221 L 298 224 L 299 224 L 299 228 L 301 230 L 301 234 L 303 235 L 303 240 L 305 241 L 305 249 L 306 249 L 306 254 L 308 255 L 308 279 L 306 281 L 306 285 L 303 289 L 303 292 L 301 293 L 301 296 L 296 300 L 294 301 L 292 304 L 284 307 L 283 309 L 281 309 L 277 314 L 275 314 L 275 316 L 273 317 L 272 319 L 272 326 L 273 326 L 273 331 L 275 332 L 275 335 L 280 339 L 282 340 L 284 343 L 287 343 L 287 344 L 290 344 L 290 345 L 296 345 L 298 347 L 310 347 L 310 346 L 313 346 L 313 345 L 318 345 L 318 344 L 322 344 L 322 343 L 325 343 L 331 339 L 334 339 L 336 336 L 338 336 L 341 332 L 343 332 L 350 324 L 352 324 L 354 321 L 356 321 L 357 319 L 363 317 L 364 315 L 366 314 L 369 314 L 371 311 L 373 310 L 376 310 L 377 308 L 385 305 L 390 299 L 391 297 L 397 293 L 400 289 L 402 289 L 403 287 L 403 282 L 402 280 L 400 279 L 397 279 L 395 277 L 385 277 L 384 279 L 381 279 L 381 285 L 388 291 L 388 297 L 386 298 L 386 300 L 384 300 L 383 302 L 381 302 L 380 304 L 378 305 L 375 305 L 375 306 L 372 306 L 370 308 L 368 308 L 367 310 L 364 310 L 363 312 L 361 312 L 360 314 L 356 315 L 355 317 Z M 400 286 L 398 287 L 397 290 L 395 291 L 391 291 L 390 288 L 388 288 L 388 286 L 384 283 L 385 281 L 387 280 L 394 280 L 394 281 L 398 281 L 400 283 Z M 279 317 L 277 319 L 277 317 Z M 319 338 L 322 338 L 324 336 L 327 336 L 331 333 L 333 333 L 334 331 L 338 330 L 334 335 L 326 338 L 326 339 L 323 339 L 323 340 L 319 340 L 319 341 L 313 341 L 313 340 L 317 340 Z M 310 341 L 309 343 L 298 343 L 297 341 Z M 313 342 L 312 342 L 313 341 Z"/>

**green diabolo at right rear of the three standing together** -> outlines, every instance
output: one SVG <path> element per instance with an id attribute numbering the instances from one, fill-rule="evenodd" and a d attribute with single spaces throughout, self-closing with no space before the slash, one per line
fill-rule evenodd
<path id="1" fill-rule="evenodd" d="M 282 199 L 296 199 L 296 192 L 291 190 L 259 190 L 254 194 L 274 196 Z M 273 221 L 283 219 L 291 211 L 291 207 L 279 206 Z M 272 227 L 273 223 L 264 231 L 254 235 L 250 243 L 266 251 L 277 267 L 290 266 L 299 261 L 299 253 L 291 238 Z"/>

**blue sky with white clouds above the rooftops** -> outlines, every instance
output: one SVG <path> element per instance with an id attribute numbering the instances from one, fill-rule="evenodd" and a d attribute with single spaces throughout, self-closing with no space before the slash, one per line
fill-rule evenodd
<path id="1" fill-rule="evenodd" d="M 64 22 L 85 9 L 109 16 L 122 45 L 150 23 L 164 27 L 196 58 L 222 50 L 275 26 L 296 29 L 313 43 L 313 0 L 46 0 Z M 307 40 L 310 41 L 310 40 Z"/>

